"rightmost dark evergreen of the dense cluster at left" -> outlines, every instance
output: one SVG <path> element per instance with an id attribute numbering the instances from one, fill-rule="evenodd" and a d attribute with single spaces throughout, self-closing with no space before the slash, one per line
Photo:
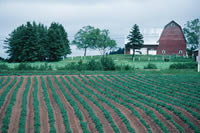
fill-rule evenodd
<path id="1" fill-rule="evenodd" d="M 67 32 L 58 23 L 52 23 L 48 29 L 48 60 L 58 61 L 67 54 L 71 54 Z"/>

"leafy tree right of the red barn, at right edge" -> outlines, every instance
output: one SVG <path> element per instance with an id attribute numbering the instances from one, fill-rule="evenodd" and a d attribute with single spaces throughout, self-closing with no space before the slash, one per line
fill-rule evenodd
<path id="1" fill-rule="evenodd" d="M 183 28 L 183 33 L 187 40 L 188 55 L 192 56 L 195 49 L 198 48 L 198 36 L 200 34 L 200 22 L 199 19 L 194 19 L 192 21 L 187 21 Z"/>

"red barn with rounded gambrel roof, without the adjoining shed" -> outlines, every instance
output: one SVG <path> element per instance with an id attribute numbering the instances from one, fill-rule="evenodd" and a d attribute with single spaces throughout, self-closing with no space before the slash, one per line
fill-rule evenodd
<path id="1" fill-rule="evenodd" d="M 159 39 L 157 54 L 186 55 L 186 39 L 181 26 L 175 21 L 171 21 L 164 27 Z"/>

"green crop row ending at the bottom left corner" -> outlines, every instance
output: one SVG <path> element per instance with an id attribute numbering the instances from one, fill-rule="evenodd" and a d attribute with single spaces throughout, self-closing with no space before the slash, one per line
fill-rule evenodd
<path id="1" fill-rule="evenodd" d="M 10 103 L 9 103 L 7 109 L 6 109 L 5 116 L 3 118 L 3 124 L 2 124 L 2 127 L 1 127 L 2 133 L 7 133 L 8 132 L 12 109 L 13 109 L 13 106 L 15 105 L 17 92 L 18 92 L 20 86 L 22 85 L 23 80 L 24 80 L 24 77 L 21 77 L 20 78 L 20 82 L 17 84 L 16 88 L 14 89 L 14 91 L 12 93 L 12 96 L 11 96 L 11 99 L 10 99 Z"/>

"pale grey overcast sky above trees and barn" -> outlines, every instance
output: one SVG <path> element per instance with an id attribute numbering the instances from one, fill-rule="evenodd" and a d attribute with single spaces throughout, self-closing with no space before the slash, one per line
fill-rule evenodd
<path id="1" fill-rule="evenodd" d="M 156 43 L 171 20 L 184 26 L 188 20 L 200 18 L 199 5 L 200 0 L 0 0 L 0 56 L 6 57 L 2 40 L 27 21 L 47 26 L 61 23 L 70 40 L 86 25 L 109 29 L 122 47 L 134 24 L 139 25 L 146 43 Z M 72 50 L 73 56 L 83 54 Z"/>

